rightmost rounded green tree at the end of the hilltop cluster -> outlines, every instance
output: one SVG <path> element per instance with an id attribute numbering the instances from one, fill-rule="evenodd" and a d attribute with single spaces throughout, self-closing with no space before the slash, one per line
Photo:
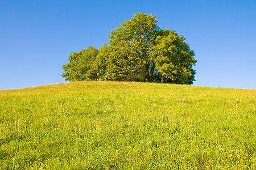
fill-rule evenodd
<path id="1" fill-rule="evenodd" d="M 154 49 L 156 71 L 160 73 L 161 82 L 175 84 L 192 84 L 196 71 L 195 53 L 184 42 L 184 36 L 178 36 L 175 31 L 164 29 L 158 32 Z"/>

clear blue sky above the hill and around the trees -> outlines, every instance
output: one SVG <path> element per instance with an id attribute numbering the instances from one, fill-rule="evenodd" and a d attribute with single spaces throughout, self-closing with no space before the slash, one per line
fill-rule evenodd
<path id="1" fill-rule="evenodd" d="M 256 1 L 0 0 L 0 89 L 64 83 L 71 52 L 108 44 L 137 12 L 186 37 L 193 86 L 256 88 Z"/>

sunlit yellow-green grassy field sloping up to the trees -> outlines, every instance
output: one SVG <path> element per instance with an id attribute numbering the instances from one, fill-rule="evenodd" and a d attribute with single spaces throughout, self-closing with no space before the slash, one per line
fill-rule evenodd
<path id="1" fill-rule="evenodd" d="M 125 82 L 0 90 L 0 167 L 256 169 L 255 95 Z"/>

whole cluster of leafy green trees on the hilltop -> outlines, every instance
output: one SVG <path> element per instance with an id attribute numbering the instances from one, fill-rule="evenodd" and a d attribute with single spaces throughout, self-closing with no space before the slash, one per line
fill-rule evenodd
<path id="1" fill-rule="evenodd" d="M 65 80 L 114 80 L 192 84 L 195 53 L 175 31 L 160 29 L 152 14 L 135 14 L 110 31 L 108 45 L 74 52 Z"/>

